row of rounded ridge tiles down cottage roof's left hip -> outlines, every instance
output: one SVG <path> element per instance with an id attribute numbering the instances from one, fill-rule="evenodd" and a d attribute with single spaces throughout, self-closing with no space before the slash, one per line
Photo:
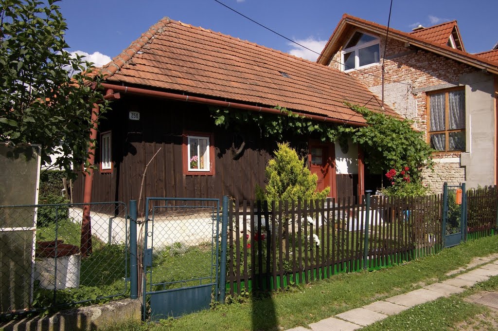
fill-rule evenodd
<path id="1" fill-rule="evenodd" d="M 142 33 L 140 37 L 125 48 L 121 54 L 114 57 L 111 62 L 102 67 L 101 72 L 104 78 L 109 78 L 119 71 L 145 44 L 153 39 L 157 32 L 162 32 L 162 30 L 172 21 L 173 20 L 169 17 L 164 16 L 157 23 L 149 27 L 147 31 Z"/>

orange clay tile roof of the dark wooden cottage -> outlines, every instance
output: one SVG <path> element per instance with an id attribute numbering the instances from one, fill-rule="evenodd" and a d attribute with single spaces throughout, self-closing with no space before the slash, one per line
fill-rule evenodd
<path id="1" fill-rule="evenodd" d="M 103 74 L 108 82 L 280 105 L 357 123 L 365 120 L 345 101 L 381 106 L 362 83 L 336 69 L 167 17 L 106 65 Z"/>

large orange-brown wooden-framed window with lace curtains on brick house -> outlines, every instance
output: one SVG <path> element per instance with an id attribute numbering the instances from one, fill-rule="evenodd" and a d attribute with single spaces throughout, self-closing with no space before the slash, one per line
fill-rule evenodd
<path id="1" fill-rule="evenodd" d="M 436 152 L 465 151 L 465 90 L 428 95 L 429 143 Z"/>

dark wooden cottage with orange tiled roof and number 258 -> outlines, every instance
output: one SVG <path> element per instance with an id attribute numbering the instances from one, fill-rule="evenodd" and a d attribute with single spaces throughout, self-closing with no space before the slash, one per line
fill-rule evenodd
<path id="1" fill-rule="evenodd" d="M 275 109 L 281 106 L 317 123 L 363 126 L 364 118 L 345 102 L 381 108 L 371 91 L 340 70 L 169 18 L 102 72 L 106 93 L 120 98 L 99 123 L 92 202 L 138 199 L 150 160 L 143 197 L 253 199 L 276 141 L 254 125 L 215 125 L 213 109 L 287 116 Z M 307 158 L 330 196 L 365 190 L 362 153 L 351 142 L 293 134 L 283 140 Z M 75 202 L 83 201 L 84 181 L 76 181 Z"/>

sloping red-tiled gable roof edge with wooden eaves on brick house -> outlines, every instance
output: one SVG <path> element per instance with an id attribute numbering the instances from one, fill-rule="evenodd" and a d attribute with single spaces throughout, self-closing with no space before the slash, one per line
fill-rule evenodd
<path id="1" fill-rule="evenodd" d="M 361 27 L 363 29 L 381 34 L 385 34 L 385 31 L 387 30 L 387 27 L 385 25 L 378 24 L 363 18 L 355 17 L 349 14 L 344 14 L 341 21 L 337 24 L 334 32 L 330 36 L 329 41 L 322 50 L 322 53 L 318 57 L 317 63 L 324 64 L 328 62 L 330 57 L 334 54 L 334 51 L 337 51 L 339 46 L 333 43 L 336 41 L 337 39 L 336 37 L 342 32 L 344 26 L 346 25 Z M 389 28 L 389 36 L 397 40 L 410 42 L 413 45 L 420 47 L 422 49 L 426 49 L 434 53 L 446 56 L 448 58 L 452 58 L 456 61 L 467 63 L 476 68 L 487 69 L 490 72 L 498 74 L 498 64 L 485 57 L 481 57 L 476 54 L 471 54 L 459 49 L 451 48 L 446 44 L 440 44 L 428 39 L 423 39 L 411 33 L 403 32 L 393 28 Z"/>

